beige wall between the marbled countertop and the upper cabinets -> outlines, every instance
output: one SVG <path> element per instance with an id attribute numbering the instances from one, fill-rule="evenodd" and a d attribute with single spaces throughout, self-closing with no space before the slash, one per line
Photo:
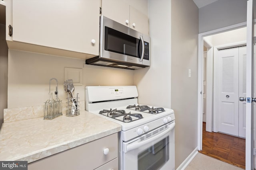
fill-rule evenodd
<path id="1" fill-rule="evenodd" d="M 64 68 L 82 68 L 82 86 L 75 86 L 84 101 L 85 86 L 133 85 L 133 70 L 85 65 L 84 60 L 9 49 L 8 108 L 44 105 L 48 100 L 49 80 L 58 79 L 59 98 L 66 103 L 63 89 Z M 55 91 L 52 81 L 51 91 Z"/>

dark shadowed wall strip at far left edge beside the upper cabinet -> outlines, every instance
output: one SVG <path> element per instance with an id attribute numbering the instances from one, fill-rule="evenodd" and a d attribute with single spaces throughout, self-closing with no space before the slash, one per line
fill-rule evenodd
<path id="1" fill-rule="evenodd" d="M 4 122 L 4 109 L 7 108 L 8 89 L 8 47 L 5 40 L 5 25 L 0 24 L 0 127 Z"/>

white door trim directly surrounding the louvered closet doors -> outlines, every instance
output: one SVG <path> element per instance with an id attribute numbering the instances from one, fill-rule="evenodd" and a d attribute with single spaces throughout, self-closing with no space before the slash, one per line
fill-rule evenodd
<path id="1" fill-rule="evenodd" d="M 214 77 L 213 77 L 213 91 L 216 92 L 213 95 L 213 131 L 218 132 L 218 51 L 221 49 L 228 49 L 228 48 L 233 48 L 233 47 L 240 47 L 240 46 L 245 46 L 246 41 L 240 41 L 236 43 L 230 43 L 230 44 L 225 44 L 225 45 L 218 45 L 214 47 L 214 55 L 213 55 L 213 60 L 214 60 Z"/>

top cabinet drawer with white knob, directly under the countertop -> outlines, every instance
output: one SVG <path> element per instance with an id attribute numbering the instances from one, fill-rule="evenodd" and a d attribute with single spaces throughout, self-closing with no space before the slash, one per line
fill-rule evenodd
<path id="1" fill-rule="evenodd" d="M 108 148 L 108 154 L 104 149 Z M 29 170 L 93 170 L 118 157 L 117 133 L 28 164 Z"/>

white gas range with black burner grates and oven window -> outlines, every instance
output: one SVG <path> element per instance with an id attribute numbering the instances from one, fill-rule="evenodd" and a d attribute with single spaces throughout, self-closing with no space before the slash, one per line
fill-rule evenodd
<path id="1" fill-rule="evenodd" d="M 138 104 L 136 86 L 86 86 L 86 111 L 119 123 L 120 170 L 174 169 L 174 111 Z"/>

